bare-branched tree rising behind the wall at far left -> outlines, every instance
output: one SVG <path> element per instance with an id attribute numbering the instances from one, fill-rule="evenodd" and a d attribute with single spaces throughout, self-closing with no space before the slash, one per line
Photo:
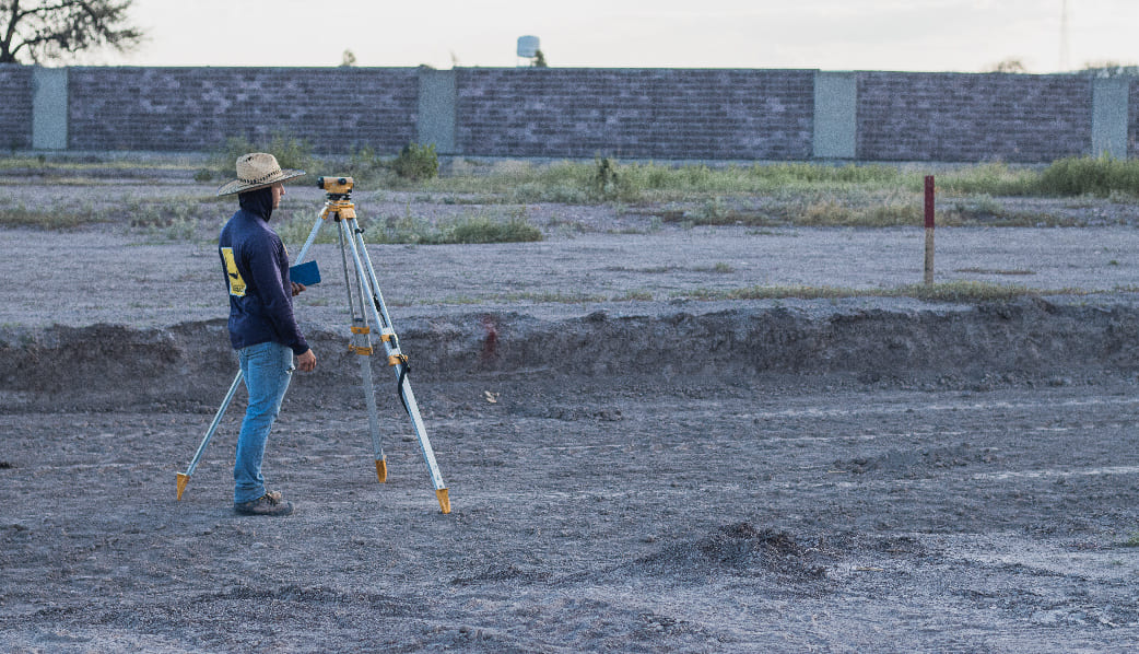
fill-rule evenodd
<path id="1" fill-rule="evenodd" d="M 0 0 L 0 64 L 39 64 L 104 46 L 129 50 L 142 40 L 126 24 L 132 1 Z"/>

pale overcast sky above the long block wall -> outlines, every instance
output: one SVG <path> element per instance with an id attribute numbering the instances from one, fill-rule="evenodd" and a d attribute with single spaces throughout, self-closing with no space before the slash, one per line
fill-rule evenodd
<path id="1" fill-rule="evenodd" d="M 81 63 L 144 66 L 551 66 L 991 70 L 1139 64 L 1139 0 L 134 0 L 149 36 Z M 1066 52 L 1066 56 L 1065 56 Z"/>

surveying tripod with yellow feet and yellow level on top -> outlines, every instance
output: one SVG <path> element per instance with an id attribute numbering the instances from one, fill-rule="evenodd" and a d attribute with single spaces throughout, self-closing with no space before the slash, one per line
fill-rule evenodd
<path id="1" fill-rule="evenodd" d="M 380 483 L 387 481 L 387 458 L 379 442 L 379 418 L 376 414 L 376 394 L 371 382 L 370 357 L 375 352 L 375 349 L 372 348 L 371 327 L 368 321 L 369 313 L 379 329 L 379 341 L 384 344 L 387 365 L 395 370 L 400 402 L 407 410 L 408 416 L 410 416 L 411 425 L 416 431 L 416 436 L 419 439 L 419 448 L 423 451 L 424 460 L 427 463 L 427 472 L 431 474 L 432 484 L 435 487 L 435 497 L 439 498 L 439 506 L 443 513 L 451 513 L 451 500 L 448 497 L 446 485 L 443 483 L 443 476 L 439 472 L 439 464 L 435 463 L 435 452 L 432 450 L 431 441 L 427 440 L 427 430 L 424 427 L 423 417 L 419 415 L 419 406 L 416 403 L 416 395 L 411 392 L 411 384 L 408 382 L 408 358 L 400 351 L 399 338 L 396 338 L 395 330 L 392 328 L 392 320 L 387 314 L 384 296 L 379 292 L 376 270 L 372 268 L 371 260 L 368 257 L 368 250 L 364 247 L 363 230 L 357 223 L 355 205 L 352 204 L 353 183 L 350 177 L 322 177 L 317 181 L 317 186 L 327 194 L 325 209 L 317 216 L 317 221 L 312 226 L 312 231 L 309 232 L 309 239 L 296 256 L 296 262 L 304 261 L 309 248 L 317 240 L 317 232 L 320 231 L 320 227 L 329 218 L 333 219 L 336 223 L 341 261 L 344 265 L 344 284 L 349 293 L 349 311 L 352 316 L 352 344 L 350 345 L 350 350 L 360 357 L 364 402 L 368 407 L 368 431 L 371 433 L 371 445 L 376 459 L 376 477 Z M 355 271 L 357 283 L 354 292 L 352 279 L 349 276 L 349 254 L 351 254 L 352 267 Z M 367 299 L 364 297 L 366 295 Z M 357 313 L 358 310 L 359 314 Z M 206 431 L 205 438 L 202 439 L 202 444 L 198 445 L 198 451 L 195 452 L 189 467 L 185 473 L 178 473 L 179 500 L 182 499 L 186 484 L 190 481 L 190 476 L 194 474 L 202 453 L 210 443 L 210 439 L 218 431 L 218 425 L 221 424 L 222 416 L 226 415 L 226 409 L 229 408 L 230 402 L 233 400 L 233 394 L 237 393 L 237 387 L 241 384 L 241 378 L 243 373 L 238 370 L 233 383 L 230 384 L 229 391 L 226 393 L 226 399 L 222 400 L 221 407 L 218 409 L 216 415 L 214 415 L 213 423 L 210 424 L 210 428 Z"/>

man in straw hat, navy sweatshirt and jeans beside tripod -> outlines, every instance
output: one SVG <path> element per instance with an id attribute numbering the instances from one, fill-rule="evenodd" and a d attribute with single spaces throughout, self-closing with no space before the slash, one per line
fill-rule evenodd
<path id="1" fill-rule="evenodd" d="M 252 153 L 238 157 L 237 180 L 218 189 L 219 196 L 238 194 L 240 204 L 218 240 L 229 289 L 229 338 L 249 392 L 233 464 L 233 510 L 240 515 L 293 513 L 280 492 L 265 489 L 261 460 L 288 390 L 293 355 L 298 370 L 317 366 L 293 316 L 293 296 L 304 286 L 289 281 L 288 253 L 269 227 L 284 182 L 303 174 L 281 170 L 273 155 Z"/>

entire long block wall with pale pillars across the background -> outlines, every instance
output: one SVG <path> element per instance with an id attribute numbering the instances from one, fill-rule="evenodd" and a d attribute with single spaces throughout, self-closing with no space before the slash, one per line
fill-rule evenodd
<path id="1" fill-rule="evenodd" d="M 1047 163 L 1139 156 L 1139 81 L 661 68 L 0 66 L 0 148 Z"/>

